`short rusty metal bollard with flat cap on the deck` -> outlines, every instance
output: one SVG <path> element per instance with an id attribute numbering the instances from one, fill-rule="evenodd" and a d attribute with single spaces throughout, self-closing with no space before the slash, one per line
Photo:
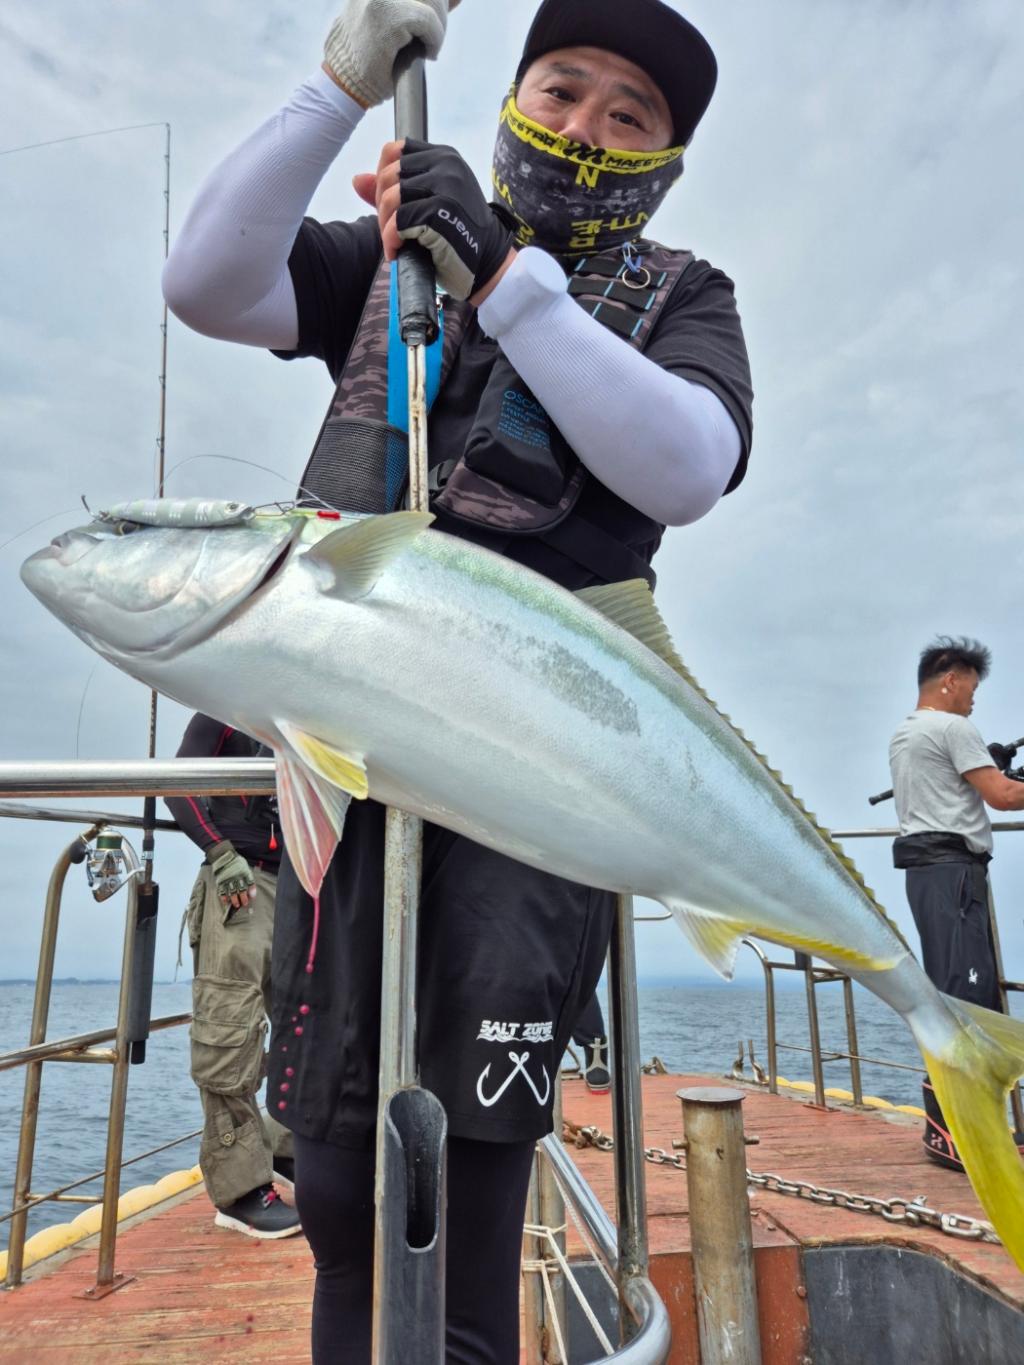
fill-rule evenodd
<path id="1" fill-rule="evenodd" d="M 679 1092 L 702 1365 L 760 1365 L 743 1093 Z"/>

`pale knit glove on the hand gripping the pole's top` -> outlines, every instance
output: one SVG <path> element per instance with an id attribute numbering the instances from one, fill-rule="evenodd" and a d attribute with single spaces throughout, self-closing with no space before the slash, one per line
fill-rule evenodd
<path id="1" fill-rule="evenodd" d="M 324 44 L 329 75 L 365 108 L 395 94 L 395 59 L 414 38 L 429 57 L 441 51 L 448 12 L 459 0 L 347 0 Z"/>

